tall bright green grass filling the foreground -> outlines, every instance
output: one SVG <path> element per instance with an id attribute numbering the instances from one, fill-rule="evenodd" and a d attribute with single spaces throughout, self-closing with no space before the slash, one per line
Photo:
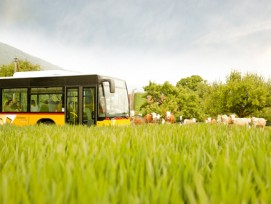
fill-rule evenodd
<path id="1" fill-rule="evenodd" d="M 271 130 L 0 126 L 0 203 L 271 203 Z"/>

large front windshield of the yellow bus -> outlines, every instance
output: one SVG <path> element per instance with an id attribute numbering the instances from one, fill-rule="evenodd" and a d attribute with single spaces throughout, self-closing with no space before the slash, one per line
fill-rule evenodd
<path id="1" fill-rule="evenodd" d="M 104 117 L 128 117 L 129 116 L 129 104 L 128 94 L 125 82 L 115 80 L 115 92 L 110 92 L 110 86 L 108 82 L 103 82 L 103 86 L 99 86 L 100 94 L 100 106 L 102 112 L 99 116 Z"/>

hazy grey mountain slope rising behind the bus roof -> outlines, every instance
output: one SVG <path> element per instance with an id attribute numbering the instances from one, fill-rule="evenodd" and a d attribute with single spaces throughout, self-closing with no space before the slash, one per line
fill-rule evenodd
<path id="1" fill-rule="evenodd" d="M 32 64 L 38 64 L 40 65 L 41 70 L 63 70 L 63 68 L 57 65 L 51 64 L 50 62 L 47 62 L 38 57 L 34 57 L 15 47 L 0 42 L 0 66 L 3 64 L 12 63 L 15 57 L 17 57 L 19 60 L 27 60 Z"/>

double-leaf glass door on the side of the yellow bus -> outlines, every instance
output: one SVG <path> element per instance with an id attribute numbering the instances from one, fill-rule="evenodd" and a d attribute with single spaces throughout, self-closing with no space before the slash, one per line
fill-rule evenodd
<path id="1" fill-rule="evenodd" d="M 94 125 L 95 87 L 67 88 L 66 122 L 69 124 Z"/>

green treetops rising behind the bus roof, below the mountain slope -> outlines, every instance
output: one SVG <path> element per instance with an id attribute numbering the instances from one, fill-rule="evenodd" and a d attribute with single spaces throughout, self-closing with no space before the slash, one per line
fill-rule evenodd
<path id="1" fill-rule="evenodd" d="M 2 65 L 0 68 L 0 76 L 7 77 L 7 76 L 13 76 L 14 74 L 14 62 L 8 64 L 8 65 Z M 27 60 L 19 60 L 18 61 L 18 67 L 20 72 L 25 71 L 39 71 L 40 65 L 33 65 Z"/>

